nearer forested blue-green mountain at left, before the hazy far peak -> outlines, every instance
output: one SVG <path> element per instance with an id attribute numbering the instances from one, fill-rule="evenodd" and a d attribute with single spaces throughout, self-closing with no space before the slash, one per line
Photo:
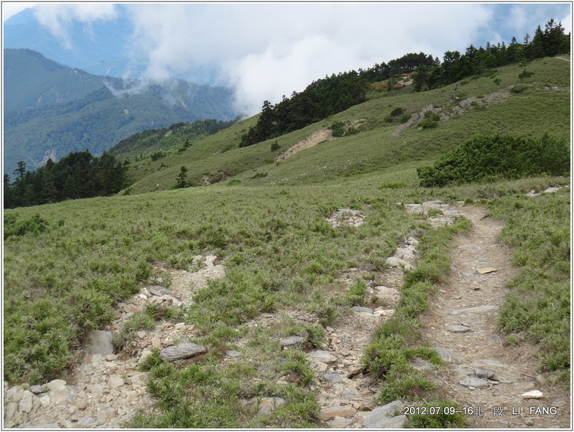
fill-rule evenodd
<path id="1" fill-rule="evenodd" d="M 89 74 L 33 50 L 4 50 L 4 172 L 48 157 L 99 155 L 142 130 L 232 120 L 232 90 L 172 79 L 162 84 Z"/>

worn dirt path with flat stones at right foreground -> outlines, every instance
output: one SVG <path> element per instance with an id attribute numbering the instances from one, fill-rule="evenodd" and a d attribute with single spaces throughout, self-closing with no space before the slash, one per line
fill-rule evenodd
<path id="1" fill-rule="evenodd" d="M 512 250 L 497 243 L 502 222 L 472 206 L 458 212 L 473 228 L 455 239 L 449 280 L 421 317 L 425 341 L 452 353 L 449 368 L 435 371 L 435 380 L 463 407 L 482 410 L 482 416 L 469 416 L 472 428 L 569 428 L 570 395 L 536 372 L 536 348 L 505 346 L 496 331 L 505 285 L 518 271 Z M 543 397 L 523 396 L 534 390 Z"/>

